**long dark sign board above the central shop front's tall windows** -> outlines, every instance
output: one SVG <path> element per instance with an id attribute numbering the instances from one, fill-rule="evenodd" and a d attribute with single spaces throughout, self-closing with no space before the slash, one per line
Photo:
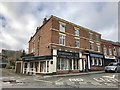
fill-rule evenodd
<path id="1" fill-rule="evenodd" d="M 79 53 L 73 52 L 58 51 L 57 55 L 64 58 L 79 58 Z"/>

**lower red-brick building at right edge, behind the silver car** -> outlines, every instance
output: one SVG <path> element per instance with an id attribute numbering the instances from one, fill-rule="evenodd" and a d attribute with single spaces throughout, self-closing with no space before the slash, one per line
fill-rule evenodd
<path id="1" fill-rule="evenodd" d="M 101 40 L 102 52 L 104 54 L 104 65 L 108 65 L 110 62 L 120 62 L 120 43 L 108 40 Z"/>

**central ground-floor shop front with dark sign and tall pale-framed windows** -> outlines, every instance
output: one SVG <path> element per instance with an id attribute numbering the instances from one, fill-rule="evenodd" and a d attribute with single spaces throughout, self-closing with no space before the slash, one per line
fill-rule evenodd
<path id="1" fill-rule="evenodd" d="M 80 72 L 79 53 L 57 50 L 57 73 Z"/>

